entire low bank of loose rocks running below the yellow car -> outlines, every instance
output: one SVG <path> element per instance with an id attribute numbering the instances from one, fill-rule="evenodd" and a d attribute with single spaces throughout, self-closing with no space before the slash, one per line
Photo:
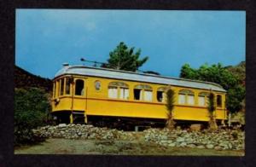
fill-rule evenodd
<path id="1" fill-rule="evenodd" d="M 136 141 L 154 142 L 165 147 L 197 147 L 216 150 L 244 149 L 244 132 L 241 130 L 167 130 L 148 129 L 143 132 L 125 132 L 108 128 L 98 128 L 85 124 L 59 124 L 44 126 L 33 130 L 41 137 L 67 139 L 90 139 L 103 141 Z"/>

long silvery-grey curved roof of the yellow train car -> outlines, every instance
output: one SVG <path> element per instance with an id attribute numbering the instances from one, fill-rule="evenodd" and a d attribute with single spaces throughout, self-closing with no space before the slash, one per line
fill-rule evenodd
<path id="1" fill-rule="evenodd" d="M 99 68 L 92 66 L 63 66 L 59 72 L 55 74 L 55 78 L 66 74 L 78 74 L 84 76 L 101 77 L 101 78 L 116 78 L 130 81 L 140 81 L 145 83 L 161 83 L 170 84 L 173 86 L 182 86 L 197 89 L 212 89 L 215 91 L 226 92 L 217 83 L 195 81 L 183 78 L 170 78 L 154 74 L 145 74 L 137 72 L 125 72 L 120 70 L 113 70 L 108 68 Z"/>

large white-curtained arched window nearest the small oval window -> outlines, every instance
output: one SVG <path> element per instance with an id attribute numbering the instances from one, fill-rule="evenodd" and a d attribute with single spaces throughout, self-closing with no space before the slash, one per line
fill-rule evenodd
<path id="1" fill-rule="evenodd" d="M 127 83 L 112 82 L 108 84 L 108 97 L 129 99 L 129 86 Z"/>

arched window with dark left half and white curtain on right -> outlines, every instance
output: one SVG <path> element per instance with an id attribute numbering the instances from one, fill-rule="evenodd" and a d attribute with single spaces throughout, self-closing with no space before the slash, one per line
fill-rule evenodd
<path id="1" fill-rule="evenodd" d="M 133 89 L 134 99 L 152 101 L 152 87 L 146 84 L 138 84 Z"/>

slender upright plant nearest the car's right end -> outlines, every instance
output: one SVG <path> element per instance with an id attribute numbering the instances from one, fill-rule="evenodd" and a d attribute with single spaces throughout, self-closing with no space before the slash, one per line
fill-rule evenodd
<path id="1" fill-rule="evenodd" d="M 214 117 L 214 111 L 216 109 L 215 107 L 215 95 L 210 93 L 209 97 L 208 97 L 208 112 L 209 112 L 209 129 L 210 130 L 216 130 L 218 128 L 217 124 L 216 124 L 216 120 Z"/>

